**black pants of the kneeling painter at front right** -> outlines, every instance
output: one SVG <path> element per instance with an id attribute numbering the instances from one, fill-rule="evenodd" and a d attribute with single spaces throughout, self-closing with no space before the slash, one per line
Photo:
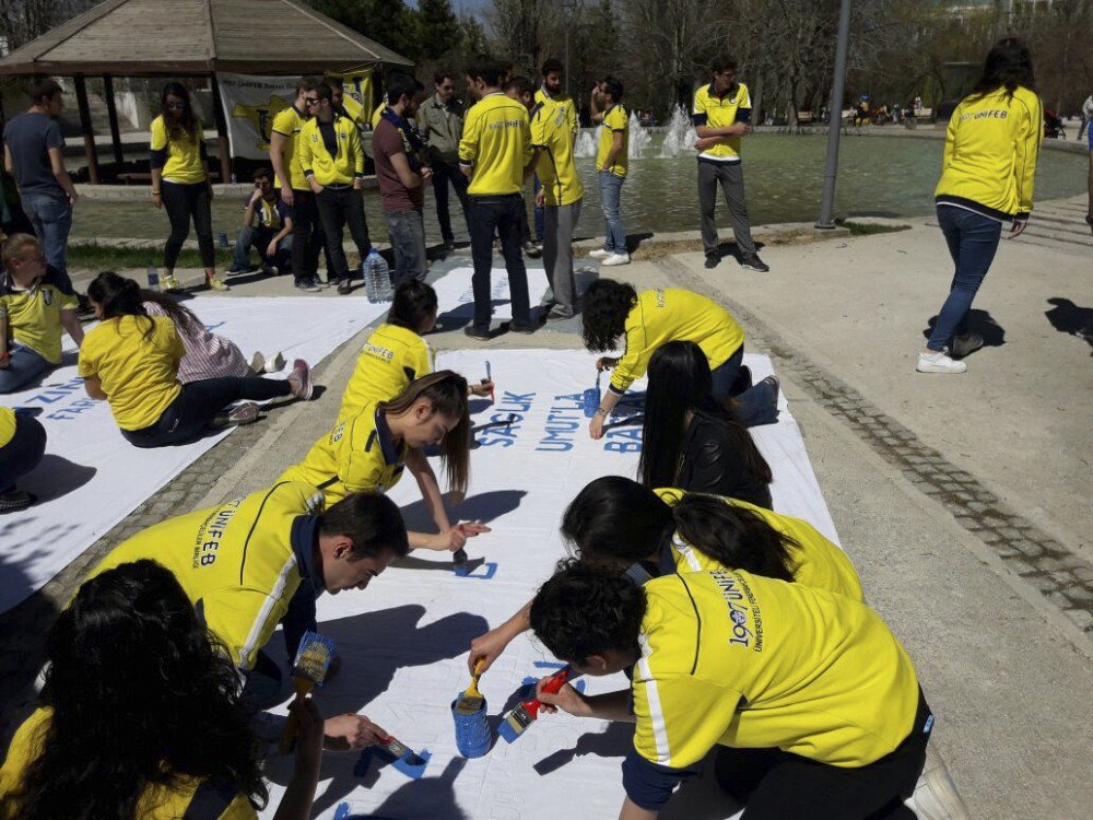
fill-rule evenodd
<path id="1" fill-rule="evenodd" d="M 744 820 L 914 820 L 903 805 L 926 763 L 933 715 L 921 690 L 910 734 L 869 765 L 844 769 L 780 749 L 717 751 L 721 788 L 747 806 Z"/>

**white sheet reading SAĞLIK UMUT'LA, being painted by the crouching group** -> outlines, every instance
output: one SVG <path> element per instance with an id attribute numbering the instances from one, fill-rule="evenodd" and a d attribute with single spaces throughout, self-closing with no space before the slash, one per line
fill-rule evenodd
<path id="1" fill-rule="evenodd" d="M 484 375 L 486 359 L 498 385 L 496 403 L 472 399 L 474 424 L 503 423 L 509 413 L 516 418 L 512 426 L 475 433 L 470 491 L 449 511 L 493 528 L 468 544 L 472 563 L 478 563 L 472 575 L 458 577 L 445 554 L 424 552 L 392 566 L 363 593 L 324 596 L 318 602 L 319 631 L 336 641 L 343 660 L 338 677 L 318 694 L 324 713 L 364 713 L 432 758 L 424 777 L 411 781 L 375 759 L 366 775 L 357 777 L 356 754 L 328 754 L 315 816 L 332 818 L 344 803 L 343 812 L 373 818 L 555 820 L 561 813 L 615 817 L 622 804 L 620 763 L 631 743 L 628 725 L 548 716 L 513 745 L 497 740 L 484 758 L 468 761 L 456 752 L 450 703 L 469 682 L 471 639 L 528 601 L 564 554 L 557 528 L 566 504 L 595 478 L 633 476 L 640 446 L 640 427 L 634 424 L 611 427 L 600 442 L 588 437 L 580 394 L 595 383 L 596 356 L 454 351 L 442 353 L 437 366 L 474 379 Z M 769 373 L 765 356 L 749 355 L 747 362 L 757 377 Z M 642 390 L 644 383 L 637 383 L 635 393 Z M 785 402 L 781 420 L 764 429 L 761 447 L 778 476 L 776 507 L 834 534 Z M 391 496 L 411 528 L 433 531 L 414 481 L 403 479 Z M 280 647 L 278 639 L 273 648 L 279 657 Z M 481 681 L 494 724 L 515 705 L 512 695 L 521 682 L 550 673 L 556 668 L 553 661 L 527 636 L 509 646 Z M 625 686 L 621 675 L 587 681 L 590 692 Z M 273 816 L 290 769 L 285 759 L 271 763 L 273 795 L 263 817 Z M 722 798 L 714 805 L 721 807 L 715 808 L 720 813 L 704 817 L 732 813 L 718 800 Z M 682 796 L 673 803 L 687 805 Z"/>

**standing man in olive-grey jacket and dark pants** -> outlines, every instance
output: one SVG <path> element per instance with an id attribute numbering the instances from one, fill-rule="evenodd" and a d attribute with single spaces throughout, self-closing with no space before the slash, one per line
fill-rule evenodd
<path id="1" fill-rule="evenodd" d="M 448 215 L 448 183 L 456 189 L 463 208 L 463 219 L 470 225 L 467 177 L 459 171 L 459 138 L 463 134 L 463 104 L 456 99 L 456 84 L 450 71 L 433 74 L 436 93 L 418 108 L 418 130 L 428 151 L 433 168 L 433 197 L 436 199 L 436 221 L 447 249 L 455 245 L 451 218 Z"/>

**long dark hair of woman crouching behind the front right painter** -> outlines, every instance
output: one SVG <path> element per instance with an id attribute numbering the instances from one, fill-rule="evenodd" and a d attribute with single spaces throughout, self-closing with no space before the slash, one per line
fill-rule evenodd
<path id="1" fill-rule="evenodd" d="M 673 534 L 732 570 L 792 581 L 800 544 L 757 513 L 717 495 L 686 493 L 675 506 L 622 476 L 598 478 L 562 516 L 562 536 L 583 560 L 646 561 Z"/>

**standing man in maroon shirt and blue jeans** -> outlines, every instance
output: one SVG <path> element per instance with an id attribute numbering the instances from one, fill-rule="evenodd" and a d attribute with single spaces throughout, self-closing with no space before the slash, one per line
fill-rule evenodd
<path id="1" fill-rule="evenodd" d="M 395 284 L 408 279 L 424 280 L 425 180 L 432 176 L 422 162 L 425 144 L 412 119 L 424 86 L 409 74 L 387 81 L 387 107 L 376 125 L 372 152 L 383 200 L 387 233 L 395 249 Z"/>

